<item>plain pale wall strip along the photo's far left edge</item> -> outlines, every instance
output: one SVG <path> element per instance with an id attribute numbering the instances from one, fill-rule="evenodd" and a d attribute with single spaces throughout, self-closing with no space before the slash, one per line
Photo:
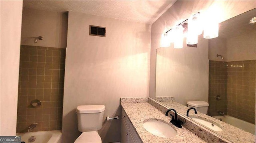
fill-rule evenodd
<path id="1" fill-rule="evenodd" d="M 0 135 L 16 135 L 22 0 L 0 1 Z"/>

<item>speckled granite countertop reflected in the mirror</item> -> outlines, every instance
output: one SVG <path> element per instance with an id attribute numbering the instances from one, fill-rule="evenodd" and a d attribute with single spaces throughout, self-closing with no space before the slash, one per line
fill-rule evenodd
<path id="1" fill-rule="evenodd" d="M 179 104 L 175 101 L 168 101 L 168 102 L 161 102 L 162 104 L 168 106 L 169 108 L 174 108 L 177 112 L 180 114 L 183 114 L 186 116 L 188 107 L 184 106 L 182 104 Z M 189 116 L 198 116 L 199 118 L 212 121 L 213 123 L 216 123 L 222 128 L 222 131 L 214 131 L 218 135 L 225 137 L 229 141 L 232 141 L 234 143 L 255 143 L 254 142 L 254 135 L 251 133 L 248 133 L 242 129 L 239 129 L 237 127 L 234 127 L 228 123 L 225 123 L 223 121 L 220 121 L 216 118 L 213 118 L 211 116 L 208 116 L 206 114 L 202 114 L 198 112 L 198 114 L 194 114 L 194 110 L 189 112 Z M 188 118 L 191 119 L 191 118 Z M 192 120 L 192 119 L 191 119 Z M 192 120 L 194 121 L 194 120 Z M 194 121 L 195 122 L 195 121 Z M 207 128 L 207 127 L 206 127 Z M 210 128 L 208 128 L 210 129 Z M 211 130 L 211 129 L 210 129 Z"/>

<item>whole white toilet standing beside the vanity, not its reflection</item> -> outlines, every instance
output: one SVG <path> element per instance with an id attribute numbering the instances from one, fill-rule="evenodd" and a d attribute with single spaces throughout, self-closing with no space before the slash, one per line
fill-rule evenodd
<path id="1" fill-rule="evenodd" d="M 102 127 L 104 105 L 77 106 L 78 130 L 82 134 L 74 143 L 102 143 L 98 130 Z"/>

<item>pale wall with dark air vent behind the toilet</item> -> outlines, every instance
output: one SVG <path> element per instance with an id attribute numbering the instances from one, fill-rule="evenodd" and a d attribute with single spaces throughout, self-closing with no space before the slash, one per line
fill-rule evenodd
<path id="1" fill-rule="evenodd" d="M 89 35 L 106 27 L 106 37 Z M 120 97 L 146 97 L 149 90 L 151 25 L 69 12 L 62 132 L 64 142 L 80 135 L 78 105 L 104 104 L 103 142 L 120 141 Z"/>

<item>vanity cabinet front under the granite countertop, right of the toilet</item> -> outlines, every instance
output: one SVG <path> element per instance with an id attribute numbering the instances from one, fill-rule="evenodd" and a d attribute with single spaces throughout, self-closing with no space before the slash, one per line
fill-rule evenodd
<path id="1" fill-rule="evenodd" d="M 123 109 L 121 118 L 121 143 L 142 143 Z"/>

